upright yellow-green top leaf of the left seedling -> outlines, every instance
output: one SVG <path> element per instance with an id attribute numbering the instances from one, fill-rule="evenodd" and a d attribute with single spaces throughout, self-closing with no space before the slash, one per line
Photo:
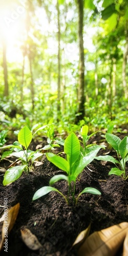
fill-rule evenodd
<path id="1" fill-rule="evenodd" d="M 18 133 L 18 141 L 20 144 L 28 148 L 32 140 L 32 133 L 27 126 L 24 126 Z"/>

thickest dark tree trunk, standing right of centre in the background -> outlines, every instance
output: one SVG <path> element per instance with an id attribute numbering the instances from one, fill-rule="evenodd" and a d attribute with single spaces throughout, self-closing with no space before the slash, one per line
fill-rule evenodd
<path id="1" fill-rule="evenodd" d="M 78 78 L 78 111 L 75 122 L 84 118 L 84 49 L 83 49 L 83 0 L 77 0 L 78 6 L 78 40 L 79 40 L 79 78 Z"/>

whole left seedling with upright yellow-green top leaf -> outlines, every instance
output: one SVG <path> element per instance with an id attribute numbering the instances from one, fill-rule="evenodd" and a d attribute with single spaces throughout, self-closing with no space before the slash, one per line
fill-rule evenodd
<path id="1" fill-rule="evenodd" d="M 4 186 L 17 180 L 22 175 L 23 171 L 29 174 L 30 170 L 32 169 L 33 162 L 38 157 L 43 155 L 38 151 L 34 152 L 29 150 L 31 140 L 32 132 L 27 126 L 25 126 L 18 133 L 18 141 L 15 141 L 11 145 L 1 147 L 2 149 L 10 148 L 10 151 L 6 151 L 3 153 L 2 159 L 11 155 L 22 161 L 22 165 L 11 166 L 9 169 L 7 169 L 4 175 Z M 13 165 L 14 164 L 15 163 L 13 163 Z"/>

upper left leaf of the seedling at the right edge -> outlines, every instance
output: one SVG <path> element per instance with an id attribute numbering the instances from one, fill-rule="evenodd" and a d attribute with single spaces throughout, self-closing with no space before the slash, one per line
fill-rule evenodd
<path id="1" fill-rule="evenodd" d="M 119 153 L 118 146 L 119 146 L 121 139 L 111 133 L 106 133 L 105 138 L 106 138 L 106 141 L 114 148 L 114 150 Z"/>

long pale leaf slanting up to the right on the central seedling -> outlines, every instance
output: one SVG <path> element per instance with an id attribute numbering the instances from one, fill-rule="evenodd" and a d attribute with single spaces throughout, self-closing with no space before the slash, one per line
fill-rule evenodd
<path id="1" fill-rule="evenodd" d="M 79 164 L 77 165 L 76 169 L 74 170 L 74 176 L 77 177 L 82 170 L 91 163 L 94 158 L 96 157 L 98 151 L 100 150 L 100 147 L 96 148 L 96 150 L 89 152 L 85 157 L 82 157 L 79 161 Z"/>

